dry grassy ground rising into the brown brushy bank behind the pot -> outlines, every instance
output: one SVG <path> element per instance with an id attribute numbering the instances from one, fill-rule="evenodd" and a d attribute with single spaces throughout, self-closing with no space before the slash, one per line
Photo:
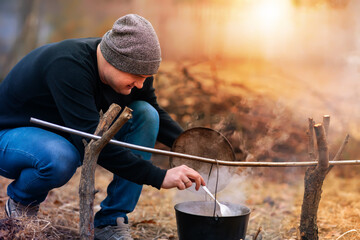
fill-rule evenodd
<path id="1" fill-rule="evenodd" d="M 332 120 L 330 157 L 349 132 L 351 139 L 343 159 L 357 159 L 358 128 L 353 122 L 358 120 L 358 110 L 352 108 L 352 96 L 359 85 L 345 89 L 343 82 L 341 89 L 347 94 L 341 98 L 339 91 L 333 91 L 335 80 L 323 72 L 297 74 L 292 70 L 266 61 L 164 63 L 155 85 L 159 103 L 174 119 L 184 128 L 207 126 L 222 132 L 239 161 L 308 161 L 307 118 L 321 122 L 323 114 L 330 114 Z M 319 81 L 313 83 L 312 77 Z M 329 105 L 331 102 L 336 104 Z M 152 160 L 168 166 L 167 158 L 153 156 Z M 65 186 L 49 193 L 39 218 L 11 221 L 0 211 L 0 239 L 77 239 L 80 171 Z M 263 239 L 300 239 L 304 171 L 237 168 L 218 196 L 221 201 L 251 209 L 248 234 L 260 229 Z M 318 211 L 320 239 L 360 239 L 359 177 L 360 166 L 337 166 L 326 177 Z M 106 196 L 111 178 L 106 170 L 97 169 L 95 210 Z M 1 208 L 10 182 L 0 178 Z M 137 208 L 129 214 L 133 237 L 178 239 L 174 205 L 194 197 L 188 190 L 159 191 L 144 186 Z"/>

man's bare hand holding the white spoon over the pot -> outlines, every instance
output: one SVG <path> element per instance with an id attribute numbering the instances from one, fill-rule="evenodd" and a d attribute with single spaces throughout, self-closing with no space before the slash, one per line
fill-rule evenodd
<path id="1" fill-rule="evenodd" d="M 191 187 L 193 182 L 196 183 L 196 190 L 199 190 L 200 185 L 205 186 L 205 181 L 198 172 L 188 166 L 181 165 L 166 172 L 161 187 L 165 189 L 177 187 L 184 190 Z"/>

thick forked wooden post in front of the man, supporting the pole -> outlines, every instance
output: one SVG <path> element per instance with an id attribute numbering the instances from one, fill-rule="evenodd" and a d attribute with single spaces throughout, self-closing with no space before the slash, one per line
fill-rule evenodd
<path id="1" fill-rule="evenodd" d="M 94 239 L 94 184 L 95 168 L 99 154 L 111 138 L 114 137 L 120 128 L 132 117 L 132 110 L 125 108 L 115 123 L 110 127 L 120 110 L 120 106 L 112 104 L 108 111 L 103 116 L 100 116 L 95 134 L 102 135 L 102 137 L 99 140 L 91 140 L 90 143 L 85 146 L 85 156 L 79 185 L 81 239 Z"/>

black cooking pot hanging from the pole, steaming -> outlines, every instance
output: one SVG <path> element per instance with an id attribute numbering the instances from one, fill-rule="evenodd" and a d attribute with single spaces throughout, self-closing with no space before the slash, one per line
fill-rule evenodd
<path id="1" fill-rule="evenodd" d="M 214 202 L 192 201 L 175 205 L 179 240 L 240 240 L 245 239 L 250 209 L 225 203 L 233 214 L 214 214 Z"/>

